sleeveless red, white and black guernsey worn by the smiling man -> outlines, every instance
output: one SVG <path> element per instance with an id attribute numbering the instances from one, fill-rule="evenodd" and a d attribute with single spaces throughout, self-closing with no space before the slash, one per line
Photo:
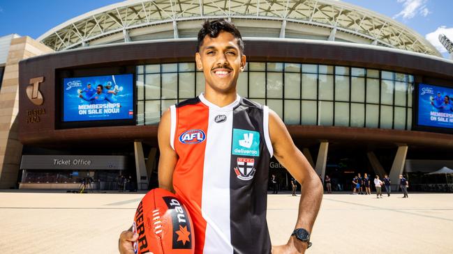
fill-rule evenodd
<path id="1" fill-rule="evenodd" d="M 170 107 L 173 187 L 189 210 L 196 254 L 271 253 L 266 222 L 269 109 L 203 95 Z"/>

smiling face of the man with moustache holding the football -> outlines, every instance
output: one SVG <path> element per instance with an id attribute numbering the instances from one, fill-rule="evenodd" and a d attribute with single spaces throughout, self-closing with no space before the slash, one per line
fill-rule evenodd
<path id="1" fill-rule="evenodd" d="M 246 56 L 241 55 L 237 39 L 221 31 L 217 38 L 207 35 L 195 54 L 198 70 L 205 74 L 206 89 L 228 93 L 236 88 L 239 72 L 244 70 Z"/>

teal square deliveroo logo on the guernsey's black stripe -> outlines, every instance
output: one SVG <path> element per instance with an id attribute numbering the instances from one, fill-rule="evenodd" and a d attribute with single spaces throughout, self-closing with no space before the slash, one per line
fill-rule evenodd
<path id="1" fill-rule="evenodd" d="M 233 129 L 232 154 L 260 156 L 260 132 Z"/>

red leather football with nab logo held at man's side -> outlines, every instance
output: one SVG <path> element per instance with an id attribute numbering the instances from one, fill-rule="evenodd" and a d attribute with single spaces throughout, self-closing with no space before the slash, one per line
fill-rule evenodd
<path id="1" fill-rule="evenodd" d="M 132 225 L 135 253 L 193 254 L 193 228 L 186 207 L 173 193 L 153 189 L 140 201 Z"/>

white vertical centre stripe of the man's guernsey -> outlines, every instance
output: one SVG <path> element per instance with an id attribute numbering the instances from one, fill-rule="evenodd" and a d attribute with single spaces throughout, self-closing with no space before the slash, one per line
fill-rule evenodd
<path id="1" fill-rule="evenodd" d="M 209 108 L 202 182 L 202 216 L 205 218 L 205 254 L 233 253 L 230 229 L 230 154 L 232 110 Z M 226 116 L 215 122 L 216 116 Z"/>

